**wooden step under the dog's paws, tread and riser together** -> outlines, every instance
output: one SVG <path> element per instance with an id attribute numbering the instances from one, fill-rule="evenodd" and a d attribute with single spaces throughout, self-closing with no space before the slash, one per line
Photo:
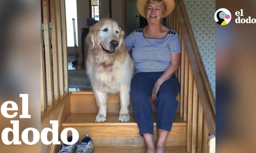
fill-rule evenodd
<path id="1" fill-rule="evenodd" d="M 73 127 L 79 132 L 79 140 L 86 134 L 92 138 L 95 146 L 145 146 L 143 137 L 133 114 L 129 122 L 118 121 L 118 113 L 108 113 L 105 122 L 95 122 L 97 113 L 71 113 L 64 121 L 64 128 Z M 153 113 L 156 121 L 156 113 Z M 166 146 L 186 146 L 187 123 L 180 116 L 175 117 L 172 130 L 166 139 Z M 71 132 L 68 132 L 71 135 Z M 154 123 L 154 140 L 157 141 L 156 123 Z"/>

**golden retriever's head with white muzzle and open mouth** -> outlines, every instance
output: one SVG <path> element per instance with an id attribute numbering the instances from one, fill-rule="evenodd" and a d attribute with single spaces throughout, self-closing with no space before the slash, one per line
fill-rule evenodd
<path id="1" fill-rule="evenodd" d="M 90 49 L 96 47 L 98 50 L 111 55 L 118 50 L 123 51 L 125 46 L 124 32 L 115 20 L 105 17 L 90 28 L 86 42 Z"/>

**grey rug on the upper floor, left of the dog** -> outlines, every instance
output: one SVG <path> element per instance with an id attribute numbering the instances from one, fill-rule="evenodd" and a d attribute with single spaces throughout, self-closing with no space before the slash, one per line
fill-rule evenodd
<path id="1" fill-rule="evenodd" d="M 89 77 L 86 74 L 85 69 L 69 70 L 69 88 L 91 88 Z"/>

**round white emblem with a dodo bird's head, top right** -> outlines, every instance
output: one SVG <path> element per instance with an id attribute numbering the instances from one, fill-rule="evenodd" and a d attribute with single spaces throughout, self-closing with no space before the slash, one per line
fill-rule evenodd
<path id="1" fill-rule="evenodd" d="M 220 8 L 215 12 L 214 19 L 219 25 L 227 25 L 231 20 L 231 13 L 226 8 Z"/>

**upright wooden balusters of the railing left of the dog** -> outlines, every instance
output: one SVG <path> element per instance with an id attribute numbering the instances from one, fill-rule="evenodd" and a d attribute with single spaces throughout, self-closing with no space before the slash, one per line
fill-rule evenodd
<path id="1" fill-rule="evenodd" d="M 68 93 L 69 85 L 65 1 L 42 0 L 42 8 L 44 37 L 41 32 L 41 112 L 45 112 L 49 106 L 54 104 L 54 101 L 60 100 L 64 97 L 64 94 Z M 51 21 L 49 21 L 49 18 L 51 18 Z"/>

